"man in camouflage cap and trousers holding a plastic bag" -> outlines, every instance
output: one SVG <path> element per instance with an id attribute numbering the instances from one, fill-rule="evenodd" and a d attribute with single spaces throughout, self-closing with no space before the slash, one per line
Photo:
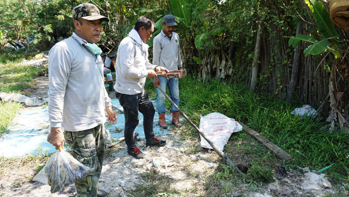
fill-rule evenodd
<path id="1" fill-rule="evenodd" d="M 77 196 L 107 196 L 98 190 L 106 148 L 105 111 L 109 123 L 116 123 L 117 116 L 104 88 L 102 51 L 95 43 L 101 39 L 102 21 L 109 19 L 88 3 L 75 7 L 72 16 L 75 33 L 49 52 L 47 141 L 59 149 L 66 140 L 72 155 L 95 170 L 75 182 Z"/>

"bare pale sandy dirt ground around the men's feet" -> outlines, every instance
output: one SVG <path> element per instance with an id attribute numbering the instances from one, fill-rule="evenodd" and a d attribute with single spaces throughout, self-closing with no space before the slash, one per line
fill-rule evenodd
<path id="1" fill-rule="evenodd" d="M 35 79 L 35 84 L 29 96 L 47 96 L 48 77 Z M 109 96 L 114 98 L 114 91 Z M 151 184 L 151 179 L 146 176 L 151 173 L 166 180 L 168 188 L 177 192 L 173 195 L 158 193 L 157 196 L 323 196 L 324 193 L 335 191 L 325 178 L 311 182 L 314 187 L 306 187 L 312 181 L 306 179 L 309 174 L 294 170 L 284 177 L 275 175 L 275 182 L 259 188 L 251 189 L 249 184 L 221 181 L 209 187 L 208 192 L 207 184 L 223 161 L 216 153 L 202 149 L 198 139 L 181 139 L 179 132 L 189 129 L 189 126 L 185 124 L 181 128 L 171 129 L 168 135 L 159 136 L 166 140 L 163 147 L 146 149 L 144 139 L 137 141 L 147 156 L 144 159 L 129 156 L 124 142 L 109 149 L 103 162 L 99 187 L 107 191 L 109 196 L 133 196 L 133 189 Z M 192 155 L 193 149 L 200 151 Z M 36 174 L 35 168 L 44 163 L 33 159 L 11 170 L 2 169 L 0 196 L 75 196 L 74 185 L 63 192 L 51 194 L 49 185 L 31 181 Z M 221 193 L 220 186 L 223 185 L 235 189 Z"/>

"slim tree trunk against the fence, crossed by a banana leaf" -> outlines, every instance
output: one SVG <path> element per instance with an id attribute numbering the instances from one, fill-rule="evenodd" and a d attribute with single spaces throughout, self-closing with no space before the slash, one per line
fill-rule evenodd
<path id="1" fill-rule="evenodd" d="M 298 36 L 300 34 L 301 29 L 302 29 L 302 23 L 300 21 L 298 21 L 296 36 Z M 294 89 L 296 88 L 296 78 L 298 76 L 297 73 L 298 73 L 299 59 L 300 59 L 300 53 L 301 53 L 300 49 L 302 48 L 301 45 L 302 45 L 301 42 L 298 43 L 298 45 L 296 46 L 296 48 L 294 50 L 291 81 L 290 81 L 290 85 L 288 86 L 288 89 L 287 89 L 287 97 L 286 97 L 286 100 L 288 102 L 291 101 L 292 93 L 294 92 Z"/>

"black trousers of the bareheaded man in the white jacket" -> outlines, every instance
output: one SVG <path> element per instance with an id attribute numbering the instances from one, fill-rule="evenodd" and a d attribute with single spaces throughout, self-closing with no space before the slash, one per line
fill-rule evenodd
<path id="1" fill-rule="evenodd" d="M 124 110 L 124 136 L 127 148 L 133 149 L 136 147 L 134 129 L 139 123 L 138 111 L 143 114 L 143 129 L 145 139 L 152 140 L 154 138 L 153 122 L 155 109 L 145 90 L 143 90 L 142 93 L 134 95 L 121 94 L 116 92 L 115 96 L 119 100 L 119 103 Z"/>

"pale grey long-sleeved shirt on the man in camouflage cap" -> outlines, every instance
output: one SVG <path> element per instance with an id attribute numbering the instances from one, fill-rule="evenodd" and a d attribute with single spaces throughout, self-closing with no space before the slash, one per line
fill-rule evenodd
<path id="1" fill-rule="evenodd" d="M 49 52 L 51 127 L 81 131 L 104 124 L 111 100 L 104 88 L 103 61 L 75 33 Z"/>

